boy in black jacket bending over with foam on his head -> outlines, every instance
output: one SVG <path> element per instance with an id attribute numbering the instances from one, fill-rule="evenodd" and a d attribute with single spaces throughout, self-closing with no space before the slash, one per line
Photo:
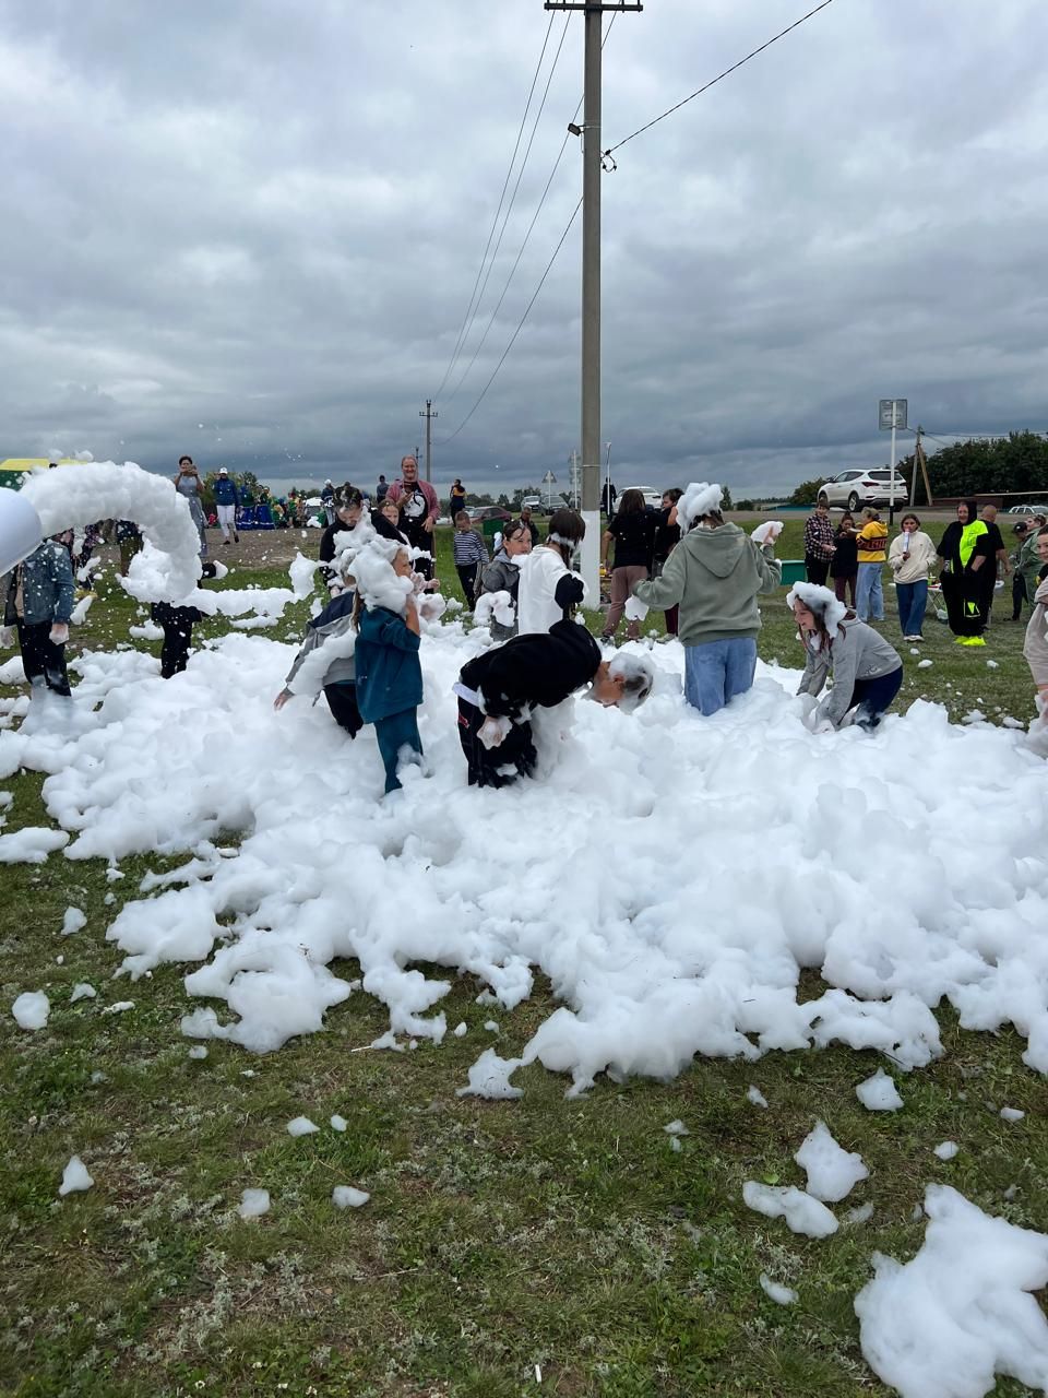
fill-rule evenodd
<path id="1" fill-rule="evenodd" d="M 470 786 L 509 786 L 531 776 L 538 754 L 528 720 L 537 706 L 553 709 L 590 684 L 591 699 L 629 712 L 647 699 L 651 682 L 639 657 L 602 660 L 601 647 L 574 621 L 483 651 L 463 665 L 454 686 Z"/>

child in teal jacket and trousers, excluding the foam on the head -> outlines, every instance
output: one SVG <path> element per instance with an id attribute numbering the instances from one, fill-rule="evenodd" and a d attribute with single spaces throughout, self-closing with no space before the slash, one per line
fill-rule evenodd
<path id="1" fill-rule="evenodd" d="M 401 549 L 393 561 L 397 577 L 411 577 L 411 559 Z M 400 790 L 401 762 L 421 762 L 416 709 L 422 703 L 418 610 L 408 593 L 402 615 L 388 607 L 363 605 L 356 594 L 356 702 L 365 723 L 374 724 L 386 765 L 386 791 Z"/>

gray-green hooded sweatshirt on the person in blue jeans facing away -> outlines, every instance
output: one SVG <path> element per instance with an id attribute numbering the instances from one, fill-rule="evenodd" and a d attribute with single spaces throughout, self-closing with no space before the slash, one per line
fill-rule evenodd
<path id="1" fill-rule="evenodd" d="M 667 559 L 662 576 L 637 583 L 633 596 L 667 611 L 681 604 L 678 635 L 685 646 L 756 639 L 757 596 L 774 593 L 783 565 L 770 544 L 755 544 L 738 524 L 699 526 Z"/>

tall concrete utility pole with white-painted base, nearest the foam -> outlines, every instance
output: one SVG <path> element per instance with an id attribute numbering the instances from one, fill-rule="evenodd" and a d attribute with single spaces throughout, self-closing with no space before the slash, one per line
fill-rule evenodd
<path id="1" fill-rule="evenodd" d="M 588 604 L 601 580 L 601 28 L 605 10 L 643 10 L 626 0 L 545 0 L 545 10 L 585 13 L 583 110 L 583 577 Z M 572 130 L 574 130 L 572 127 Z M 577 134 L 577 133 L 576 133 Z"/>

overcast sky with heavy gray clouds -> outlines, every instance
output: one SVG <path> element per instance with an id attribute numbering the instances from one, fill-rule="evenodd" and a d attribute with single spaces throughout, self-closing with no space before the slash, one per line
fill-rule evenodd
<path id="1" fill-rule="evenodd" d="M 618 15 L 602 147 L 812 3 Z M 581 96 L 581 15 L 552 17 L 538 96 L 566 25 L 563 49 L 442 391 L 542 0 L 0 0 L 0 456 L 170 470 L 189 452 L 370 481 L 425 440 L 433 397 L 436 481 L 566 482 L 581 218 L 446 439 L 581 193 L 572 138 L 468 368 Z M 880 397 L 942 438 L 1048 429 L 1047 46 L 1044 0 L 834 0 L 615 152 L 602 439 L 619 485 L 708 478 L 738 499 L 883 463 Z"/>

